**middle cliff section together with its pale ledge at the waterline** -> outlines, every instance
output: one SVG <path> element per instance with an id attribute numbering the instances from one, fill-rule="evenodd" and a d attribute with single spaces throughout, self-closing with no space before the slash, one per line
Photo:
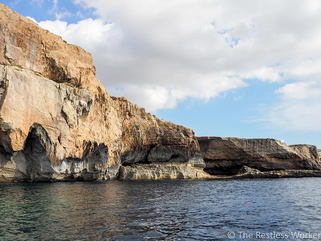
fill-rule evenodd
<path id="1" fill-rule="evenodd" d="M 120 179 L 208 176 L 193 130 L 160 120 L 124 97 L 112 99 L 123 128 Z"/>

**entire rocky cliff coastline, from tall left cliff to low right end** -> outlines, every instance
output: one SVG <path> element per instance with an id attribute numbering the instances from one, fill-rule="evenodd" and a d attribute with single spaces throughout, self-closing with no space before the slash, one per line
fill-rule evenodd
<path id="1" fill-rule="evenodd" d="M 197 138 L 110 96 L 82 48 L 0 16 L 0 182 L 320 176 L 315 146 Z"/>

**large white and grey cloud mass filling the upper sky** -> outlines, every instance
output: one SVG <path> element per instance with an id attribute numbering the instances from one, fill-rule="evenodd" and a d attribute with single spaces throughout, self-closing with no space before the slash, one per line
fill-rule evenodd
<path id="1" fill-rule="evenodd" d="M 295 88 L 321 77 L 320 1 L 74 3 L 95 9 L 97 19 L 39 25 L 91 52 L 110 94 L 148 111 L 208 100 L 257 78 L 284 83 L 278 110 L 288 116 Z"/>

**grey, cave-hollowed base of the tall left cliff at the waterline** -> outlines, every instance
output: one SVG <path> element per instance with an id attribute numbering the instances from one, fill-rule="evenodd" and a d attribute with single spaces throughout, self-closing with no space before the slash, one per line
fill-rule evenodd
<path id="1" fill-rule="evenodd" d="M 108 176 L 99 169 L 108 165 L 108 147 L 104 144 L 87 143 L 81 159 L 67 157 L 64 160 L 57 160 L 56 145 L 47 131 L 35 123 L 21 151 L 10 152 L 0 147 L 0 168 L 10 173 L 11 181 L 84 181 Z"/>

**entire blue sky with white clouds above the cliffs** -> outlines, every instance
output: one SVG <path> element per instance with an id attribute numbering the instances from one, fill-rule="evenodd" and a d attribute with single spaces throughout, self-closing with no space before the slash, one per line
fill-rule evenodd
<path id="1" fill-rule="evenodd" d="M 321 148 L 321 1 L 0 2 L 90 52 L 111 95 L 197 136 Z"/>

